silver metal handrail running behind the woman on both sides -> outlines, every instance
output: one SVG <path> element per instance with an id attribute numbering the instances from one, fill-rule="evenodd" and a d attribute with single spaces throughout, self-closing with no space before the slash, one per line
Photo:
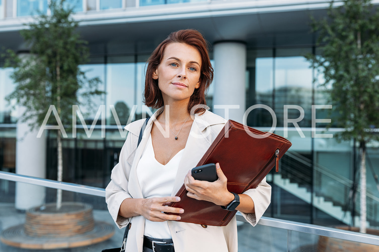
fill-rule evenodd
<path id="1" fill-rule="evenodd" d="M 71 192 L 84 193 L 88 195 L 105 197 L 105 189 L 79 184 L 58 182 L 50 179 L 35 178 L 31 176 L 18 175 L 10 172 L 0 172 L 0 179 L 7 181 L 23 182 L 38 186 L 50 187 L 54 189 L 62 189 Z M 238 212 L 237 220 L 247 222 Z M 294 221 L 279 220 L 274 218 L 262 217 L 258 222 L 259 225 L 274 227 L 287 230 L 287 248 L 291 247 L 291 232 L 302 232 L 324 237 L 332 237 L 343 240 L 355 241 L 359 243 L 367 243 L 379 246 L 379 236 L 369 235 L 365 233 L 357 233 L 346 230 L 335 229 L 331 227 L 323 227 L 312 224 L 298 223 Z"/>

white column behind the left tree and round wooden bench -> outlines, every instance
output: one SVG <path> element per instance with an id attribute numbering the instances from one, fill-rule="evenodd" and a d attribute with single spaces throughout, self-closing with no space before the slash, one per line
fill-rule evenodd
<path id="1" fill-rule="evenodd" d="M 21 58 L 29 54 L 19 55 Z M 19 106 L 18 116 L 25 111 Z M 42 134 L 37 138 L 39 127 L 33 131 L 28 126 L 31 121 L 17 121 L 16 128 L 16 173 L 21 175 L 45 178 L 46 176 L 46 138 Z M 45 132 L 44 132 L 45 133 Z M 26 183 L 16 183 L 15 207 L 26 210 L 39 206 L 45 201 L 45 187 Z"/>

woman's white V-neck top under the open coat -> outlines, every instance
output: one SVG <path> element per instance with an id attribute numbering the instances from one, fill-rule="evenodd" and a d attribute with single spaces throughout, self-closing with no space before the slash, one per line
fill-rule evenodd
<path id="1" fill-rule="evenodd" d="M 163 165 L 155 159 L 151 135 L 136 167 L 139 186 L 144 198 L 171 196 L 176 173 L 182 159 L 184 149 L 180 150 L 171 160 Z M 171 233 L 167 221 L 156 222 L 145 220 L 145 236 L 170 239 Z"/>

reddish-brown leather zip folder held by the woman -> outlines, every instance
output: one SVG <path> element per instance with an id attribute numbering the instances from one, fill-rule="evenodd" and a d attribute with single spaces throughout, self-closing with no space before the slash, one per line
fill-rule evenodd
<path id="1" fill-rule="evenodd" d="M 197 166 L 219 162 L 228 179 L 229 192 L 241 194 L 256 188 L 274 166 L 278 169 L 279 159 L 290 148 L 291 142 L 281 136 L 270 135 L 232 120 L 229 120 L 225 127 L 229 137 L 226 137 L 226 130 L 221 130 Z M 247 131 L 255 135 L 251 136 Z M 262 137 L 264 134 L 266 137 Z M 226 226 L 237 212 L 224 210 L 209 201 L 189 198 L 186 194 L 187 190 L 183 184 L 176 193 L 176 196 L 180 196 L 180 201 L 169 204 L 185 209 L 184 213 L 179 213 L 180 221 Z"/>

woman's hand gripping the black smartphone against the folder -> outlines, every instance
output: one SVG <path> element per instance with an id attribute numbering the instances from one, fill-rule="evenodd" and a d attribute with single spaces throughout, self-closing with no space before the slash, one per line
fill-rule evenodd
<path id="1" fill-rule="evenodd" d="M 184 179 L 184 185 L 188 191 L 187 196 L 194 199 L 206 200 L 219 206 L 226 206 L 233 199 L 233 193 L 230 193 L 226 187 L 227 178 L 216 164 L 218 179 L 215 182 L 195 180 L 189 171 Z"/>

